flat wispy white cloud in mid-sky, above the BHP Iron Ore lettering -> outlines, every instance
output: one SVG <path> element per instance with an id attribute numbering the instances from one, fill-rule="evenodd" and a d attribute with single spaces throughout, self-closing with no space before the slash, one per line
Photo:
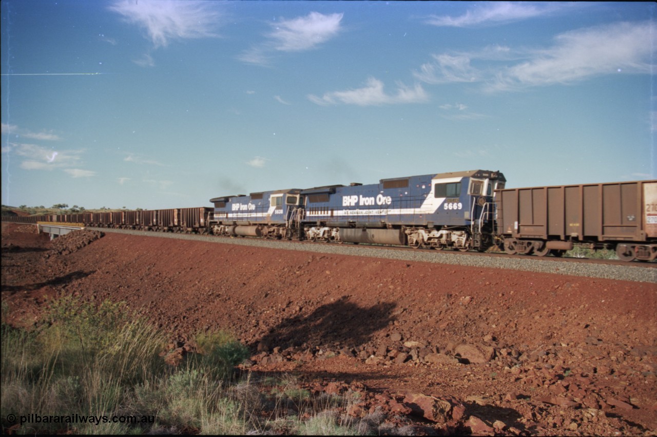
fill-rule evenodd
<path id="1" fill-rule="evenodd" d="M 428 96 L 422 89 L 422 85 L 416 83 L 413 87 L 397 83 L 394 94 L 386 94 L 383 82 L 376 78 L 369 78 L 365 86 L 347 91 L 332 91 L 325 93 L 322 97 L 308 95 L 313 103 L 321 105 L 329 104 L 355 104 L 358 106 L 372 106 L 382 104 L 399 103 L 424 103 Z"/>

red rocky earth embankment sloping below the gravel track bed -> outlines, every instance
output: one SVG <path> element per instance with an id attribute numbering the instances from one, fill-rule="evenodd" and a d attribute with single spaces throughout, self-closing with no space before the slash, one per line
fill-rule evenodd
<path id="1" fill-rule="evenodd" d="M 252 350 L 245 369 L 365 392 L 351 415 L 423 417 L 428 434 L 657 434 L 653 283 L 97 237 L 3 223 L 7 320 L 34 325 L 58 293 L 125 300 L 175 346 L 225 328 Z"/>

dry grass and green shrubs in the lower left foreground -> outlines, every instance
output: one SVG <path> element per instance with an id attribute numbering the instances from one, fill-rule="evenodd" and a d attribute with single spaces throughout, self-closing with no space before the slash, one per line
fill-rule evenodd
<path id="1" fill-rule="evenodd" d="M 5 311 L 3 311 L 4 313 Z M 4 317 L 3 317 L 4 319 Z M 194 338 L 198 353 L 164 363 L 166 334 L 122 303 L 62 297 L 28 332 L 1 326 L 3 428 L 72 434 L 361 435 L 392 430 L 382 415 L 346 414 L 361 394 L 311 394 L 294 377 L 236 377 L 248 357 L 225 331 Z M 20 415 L 58 417 L 20 424 Z M 16 415 L 16 422 L 7 417 Z M 87 417 L 72 421 L 71 416 Z M 131 423 L 113 417 L 134 417 Z"/>

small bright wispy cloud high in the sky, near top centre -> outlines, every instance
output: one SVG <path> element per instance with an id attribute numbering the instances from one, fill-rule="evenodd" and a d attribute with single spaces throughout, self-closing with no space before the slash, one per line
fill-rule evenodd
<path id="1" fill-rule="evenodd" d="M 242 52 L 237 58 L 250 64 L 268 64 L 277 51 L 298 52 L 316 49 L 342 30 L 343 14 L 310 12 L 307 16 L 271 23 L 267 39 Z"/>

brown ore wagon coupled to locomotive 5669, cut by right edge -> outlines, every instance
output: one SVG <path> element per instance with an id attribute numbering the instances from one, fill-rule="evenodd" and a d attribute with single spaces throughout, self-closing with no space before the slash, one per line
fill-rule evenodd
<path id="1" fill-rule="evenodd" d="M 588 243 L 623 261 L 657 258 L 656 180 L 503 189 L 495 202 L 509 254 L 561 256 Z"/>

